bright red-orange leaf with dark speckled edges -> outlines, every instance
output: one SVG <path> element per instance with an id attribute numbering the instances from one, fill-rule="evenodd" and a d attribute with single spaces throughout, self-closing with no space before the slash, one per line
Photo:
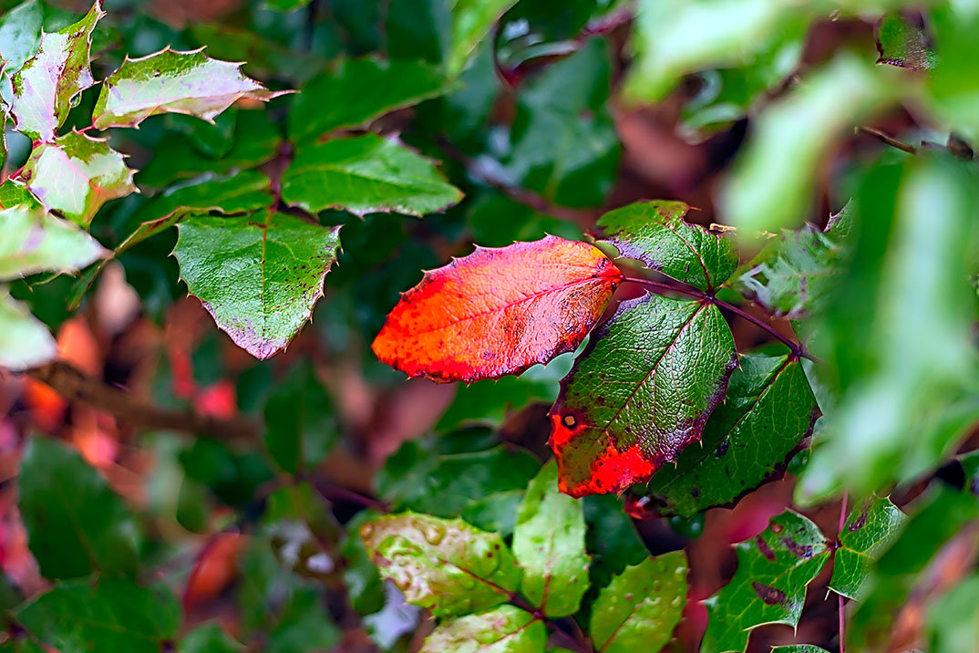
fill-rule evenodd
<path id="1" fill-rule="evenodd" d="M 436 381 L 520 374 L 577 349 L 621 280 L 598 249 L 556 236 L 477 248 L 401 296 L 374 353 Z"/>

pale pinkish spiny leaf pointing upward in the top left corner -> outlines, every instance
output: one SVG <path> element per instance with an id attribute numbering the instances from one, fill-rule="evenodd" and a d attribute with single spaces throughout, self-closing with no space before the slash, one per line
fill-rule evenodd
<path id="1" fill-rule="evenodd" d="M 81 21 L 56 32 L 41 32 L 37 54 L 11 80 L 11 114 L 18 131 L 45 143 L 54 140 L 74 97 L 95 83 L 89 50 L 92 31 L 103 16 L 102 0 L 95 0 Z"/>

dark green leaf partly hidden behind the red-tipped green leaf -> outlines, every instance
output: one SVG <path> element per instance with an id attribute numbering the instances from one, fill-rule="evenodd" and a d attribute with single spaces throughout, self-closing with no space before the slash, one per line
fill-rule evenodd
<path id="1" fill-rule="evenodd" d="M 653 475 L 647 492 L 659 514 L 693 515 L 730 506 L 780 476 L 787 459 L 813 431 L 816 397 L 798 358 L 741 356 L 724 402 L 704 427 L 703 446 L 688 446 Z"/>

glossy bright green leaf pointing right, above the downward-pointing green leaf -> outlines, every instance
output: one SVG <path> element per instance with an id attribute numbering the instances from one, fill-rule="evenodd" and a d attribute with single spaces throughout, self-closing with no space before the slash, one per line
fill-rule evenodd
<path id="1" fill-rule="evenodd" d="M 300 150 L 282 177 L 282 199 L 311 212 L 424 215 L 458 203 L 462 193 L 435 165 L 394 141 L 364 134 Z"/>

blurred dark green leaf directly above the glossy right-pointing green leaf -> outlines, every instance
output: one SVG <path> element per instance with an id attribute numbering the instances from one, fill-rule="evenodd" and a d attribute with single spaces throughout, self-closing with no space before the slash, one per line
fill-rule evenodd
<path id="1" fill-rule="evenodd" d="M 309 80 L 297 96 L 289 115 L 289 137 L 304 142 L 357 127 L 446 90 L 443 71 L 421 62 L 341 59 Z"/>

